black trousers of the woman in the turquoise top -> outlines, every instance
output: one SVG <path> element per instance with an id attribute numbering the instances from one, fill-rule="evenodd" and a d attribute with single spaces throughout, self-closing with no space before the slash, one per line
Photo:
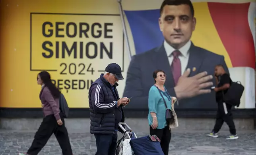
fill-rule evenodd
<path id="1" fill-rule="evenodd" d="M 160 140 L 161 148 L 165 155 L 169 153 L 169 144 L 172 137 L 172 132 L 169 130 L 168 125 L 164 129 L 152 129 L 150 127 L 150 135 L 156 135 Z"/>

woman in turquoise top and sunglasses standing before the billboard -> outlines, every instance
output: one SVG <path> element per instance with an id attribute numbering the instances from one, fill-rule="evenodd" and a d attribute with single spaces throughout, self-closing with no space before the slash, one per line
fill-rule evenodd
<path id="1" fill-rule="evenodd" d="M 166 74 L 163 70 L 156 70 L 153 72 L 153 78 L 155 80 L 155 85 L 153 85 L 149 90 L 148 95 L 148 123 L 150 126 L 150 134 L 156 135 L 161 140 L 161 147 L 163 153 L 168 155 L 169 152 L 169 143 L 171 141 L 171 130 L 166 123 L 165 113 L 167 104 L 168 109 L 171 109 L 171 96 L 165 88 L 165 77 Z M 158 90 L 159 89 L 159 90 Z M 163 101 L 160 92 L 165 99 Z"/>

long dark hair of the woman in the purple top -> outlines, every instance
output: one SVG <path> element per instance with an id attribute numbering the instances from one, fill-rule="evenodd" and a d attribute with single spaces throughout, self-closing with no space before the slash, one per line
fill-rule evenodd
<path id="1" fill-rule="evenodd" d="M 43 83 L 45 84 L 45 87 L 48 87 L 48 89 L 50 90 L 53 98 L 59 98 L 60 97 L 60 91 L 59 89 L 52 83 L 52 80 L 50 78 L 50 74 L 46 71 L 42 71 L 38 74 L 41 78 L 41 80 L 43 81 Z M 37 75 L 37 76 L 38 76 Z"/>

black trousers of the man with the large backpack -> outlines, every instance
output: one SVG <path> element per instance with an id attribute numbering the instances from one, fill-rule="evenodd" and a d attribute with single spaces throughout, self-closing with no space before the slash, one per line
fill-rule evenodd
<path id="1" fill-rule="evenodd" d="M 226 104 L 225 102 L 219 101 L 218 102 L 218 112 L 216 116 L 216 123 L 213 128 L 213 132 L 217 133 L 221 129 L 224 121 L 227 123 L 229 126 L 229 131 L 231 134 L 235 135 L 236 133 L 236 128 L 235 128 L 235 123 L 233 121 L 233 115 L 231 112 L 232 105 L 231 104 Z"/>

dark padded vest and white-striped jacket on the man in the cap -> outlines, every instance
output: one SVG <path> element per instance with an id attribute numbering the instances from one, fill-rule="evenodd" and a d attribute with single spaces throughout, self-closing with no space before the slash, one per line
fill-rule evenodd
<path id="1" fill-rule="evenodd" d="M 113 90 L 103 74 L 91 85 L 89 89 L 91 134 L 112 134 L 118 129 L 118 123 L 124 122 L 122 106 L 117 107 L 117 100 L 120 98 L 116 86 L 117 83 L 113 86 Z"/>

